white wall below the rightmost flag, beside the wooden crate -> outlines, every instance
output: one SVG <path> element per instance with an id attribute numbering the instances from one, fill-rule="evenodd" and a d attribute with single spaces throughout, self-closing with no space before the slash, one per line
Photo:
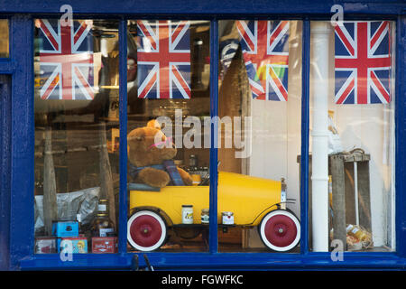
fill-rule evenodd
<path id="1" fill-rule="evenodd" d="M 392 122 L 391 106 L 337 106 L 336 124 L 341 136 L 343 148 L 350 151 L 355 147 L 362 148 L 371 155 L 371 220 L 374 246 L 390 244 L 387 240 L 387 229 L 391 226 L 388 210 L 392 201 Z M 386 116 L 385 116 L 386 115 Z M 392 214 L 389 214 L 391 217 Z"/>

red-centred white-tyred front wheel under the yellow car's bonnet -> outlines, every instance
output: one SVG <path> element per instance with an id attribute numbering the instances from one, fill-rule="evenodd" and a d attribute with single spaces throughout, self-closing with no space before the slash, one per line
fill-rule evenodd
<path id="1" fill-rule="evenodd" d="M 272 210 L 263 217 L 259 233 L 266 247 L 286 252 L 300 241 L 300 222 L 289 210 Z"/>

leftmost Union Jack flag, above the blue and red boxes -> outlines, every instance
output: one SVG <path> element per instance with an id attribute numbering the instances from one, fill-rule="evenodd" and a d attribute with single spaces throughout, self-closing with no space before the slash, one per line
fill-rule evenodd
<path id="1" fill-rule="evenodd" d="M 93 38 L 85 21 L 40 19 L 42 99 L 93 99 Z M 73 23 L 71 25 L 71 23 Z"/>

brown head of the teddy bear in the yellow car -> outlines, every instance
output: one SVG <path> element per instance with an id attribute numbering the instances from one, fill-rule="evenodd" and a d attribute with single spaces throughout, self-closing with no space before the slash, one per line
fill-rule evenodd
<path id="1" fill-rule="evenodd" d="M 161 129 L 138 127 L 127 136 L 128 160 L 137 167 L 161 164 L 175 157 L 177 150 Z"/>

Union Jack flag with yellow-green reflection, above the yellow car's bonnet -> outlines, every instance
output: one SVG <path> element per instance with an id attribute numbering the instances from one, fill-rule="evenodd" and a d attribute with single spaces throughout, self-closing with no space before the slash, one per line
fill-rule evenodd
<path id="1" fill-rule="evenodd" d="M 237 21 L 253 98 L 288 100 L 289 21 Z"/>

